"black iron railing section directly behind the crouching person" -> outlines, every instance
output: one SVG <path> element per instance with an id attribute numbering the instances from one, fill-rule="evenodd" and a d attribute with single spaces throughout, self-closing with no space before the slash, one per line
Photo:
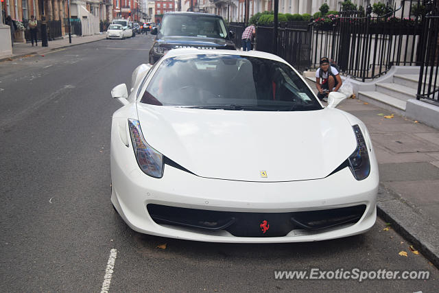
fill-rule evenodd
<path id="1" fill-rule="evenodd" d="M 337 61 L 342 73 L 357 80 L 379 78 L 394 65 L 420 65 L 422 17 L 413 16 L 420 0 L 403 0 L 383 16 L 372 8 L 344 11 L 332 21 L 313 23 L 313 60 L 327 56 Z"/>

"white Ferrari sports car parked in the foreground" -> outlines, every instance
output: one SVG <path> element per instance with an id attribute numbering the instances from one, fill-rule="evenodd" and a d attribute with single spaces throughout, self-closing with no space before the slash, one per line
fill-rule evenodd
<path id="1" fill-rule="evenodd" d="M 111 202 L 135 231 L 205 242 L 308 242 L 375 224 L 363 122 L 324 107 L 285 60 L 174 49 L 112 89 Z"/>

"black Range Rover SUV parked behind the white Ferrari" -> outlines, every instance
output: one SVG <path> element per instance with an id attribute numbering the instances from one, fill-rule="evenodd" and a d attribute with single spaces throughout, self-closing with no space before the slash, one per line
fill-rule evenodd
<path id="1" fill-rule="evenodd" d="M 170 49 L 194 47 L 200 49 L 232 49 L 230 32 L 221 16 L 196 12 L 167 12 L 150 49 L 150 63 L 154 64 Z"/>

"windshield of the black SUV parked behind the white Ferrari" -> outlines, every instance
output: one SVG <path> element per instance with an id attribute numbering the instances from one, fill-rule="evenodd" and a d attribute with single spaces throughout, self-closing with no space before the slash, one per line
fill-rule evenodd
<path id="1" fill-rule="evenodd" d="M 163 36 L 198 36 L 226 38 L 224 22 L 219 17 L 168 14 L 163 18 L 160 33 Z"/>

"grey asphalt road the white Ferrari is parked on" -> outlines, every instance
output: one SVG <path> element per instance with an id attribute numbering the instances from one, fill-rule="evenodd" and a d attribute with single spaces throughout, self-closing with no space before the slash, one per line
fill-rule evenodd
<path id="1" fill-rule="evenodd" d="M 110 292 L 439 292 L 438 270 L 381 220 L 363 235 L 304 244 L 132 231 L 110 203 L 110 121 L 121 106 L 110 90 L 130 84 L 151 44 L 150 35 L 101 40 L 0 62 L 0 292 L 99 292 L 106 268 Z M 312 268 L 426 270 L 429 279 L 274 277 Z"/>

